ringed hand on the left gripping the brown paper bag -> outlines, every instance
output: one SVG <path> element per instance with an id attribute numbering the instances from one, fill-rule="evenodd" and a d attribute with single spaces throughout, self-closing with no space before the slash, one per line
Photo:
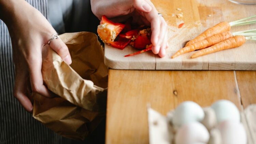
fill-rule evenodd
<path id="1" fill-rule="evenodd" d="M 32 112 L 31 92 L 51 97 L 42 78 L 42 47 L 56 33 L 47 19 L 25 0 L 17 0 L 8 26 L 15 64 L 14 97 L 28 111 Z M 60 38 L 54 39 L 50 46 L 67 63 L 71 64 L 68 47 Z"/>

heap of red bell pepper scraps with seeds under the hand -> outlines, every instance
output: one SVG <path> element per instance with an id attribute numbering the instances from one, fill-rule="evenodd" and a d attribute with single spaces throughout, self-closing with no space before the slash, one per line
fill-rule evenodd
<path id="1" fill-rule="evenodd" d="M 132 18 L 129 18 L 125 24 L 114 23 L 113 21 L 102 16 L 97 32 L 100 39 L 105 44 L 110 44 L 115 48 L 124 49 L 127 45 L 131 45 L 136 49 L 143 49 L 137 55 L 152 49 L 151 44 L 151 28 L 142 26 L 132 26 Z"/>

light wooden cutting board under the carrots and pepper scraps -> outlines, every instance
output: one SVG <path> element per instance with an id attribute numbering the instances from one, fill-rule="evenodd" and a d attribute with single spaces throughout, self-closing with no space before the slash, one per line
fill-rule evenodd
<path id="1" fill-rule="evenodd" d="M 240 5 L 228 0 L 152 0 L 168 24 L 169 48 L 160 58 L 151 51 L 124 57 L 138 50 L 127 46 L 123 50 L 105 45 L 105 64 L 112 69 L 137 70 L 256 70 L 256 42 L 221 52 L 190 59 L 190 52 L 174 59 L 171 56 L 185 43 L 221 21 L 234 21 L 256 14 L 256 5 Z M 177 8 L 181 9 L 178 11 Z M 183 18 L 176 14 L 183 13 Z M 185 23 L 182 28 L 179 24 Z M 232 32 L 256 29 L 256 24 L 235 26 Z"/>

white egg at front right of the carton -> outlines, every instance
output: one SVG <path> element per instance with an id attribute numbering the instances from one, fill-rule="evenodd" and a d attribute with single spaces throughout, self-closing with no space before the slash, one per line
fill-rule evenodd
<path id="1" fill-rule="evenodd" d="M 223 144 L 246 144 L 247 136 L 244 126 L 233 120 L 225 120 L 218 124 Z"/>

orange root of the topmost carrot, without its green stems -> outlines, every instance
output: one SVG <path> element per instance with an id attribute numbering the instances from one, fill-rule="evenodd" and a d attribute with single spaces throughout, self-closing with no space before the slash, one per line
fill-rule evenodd
<path id="1" fill-rule="evenodd" d="M 211 27 L 211 28 L 205 30 L 203 33 L 198 35 L 195 39 L 187 42 L 185 46 L 188 46 L 188 45 L 191 45 L 193 43 L 199 42 L 201 40 L 204 40 L 204 39 L 206 39 L 208 37 L 211 37 L 212 35 L 221 33 L 223 31 L 229 31 L 230 28 L 231 28 L 230 24 L 228 22 L 226 22 L 226 21 L 218 23 L 214 27 Z"/>

